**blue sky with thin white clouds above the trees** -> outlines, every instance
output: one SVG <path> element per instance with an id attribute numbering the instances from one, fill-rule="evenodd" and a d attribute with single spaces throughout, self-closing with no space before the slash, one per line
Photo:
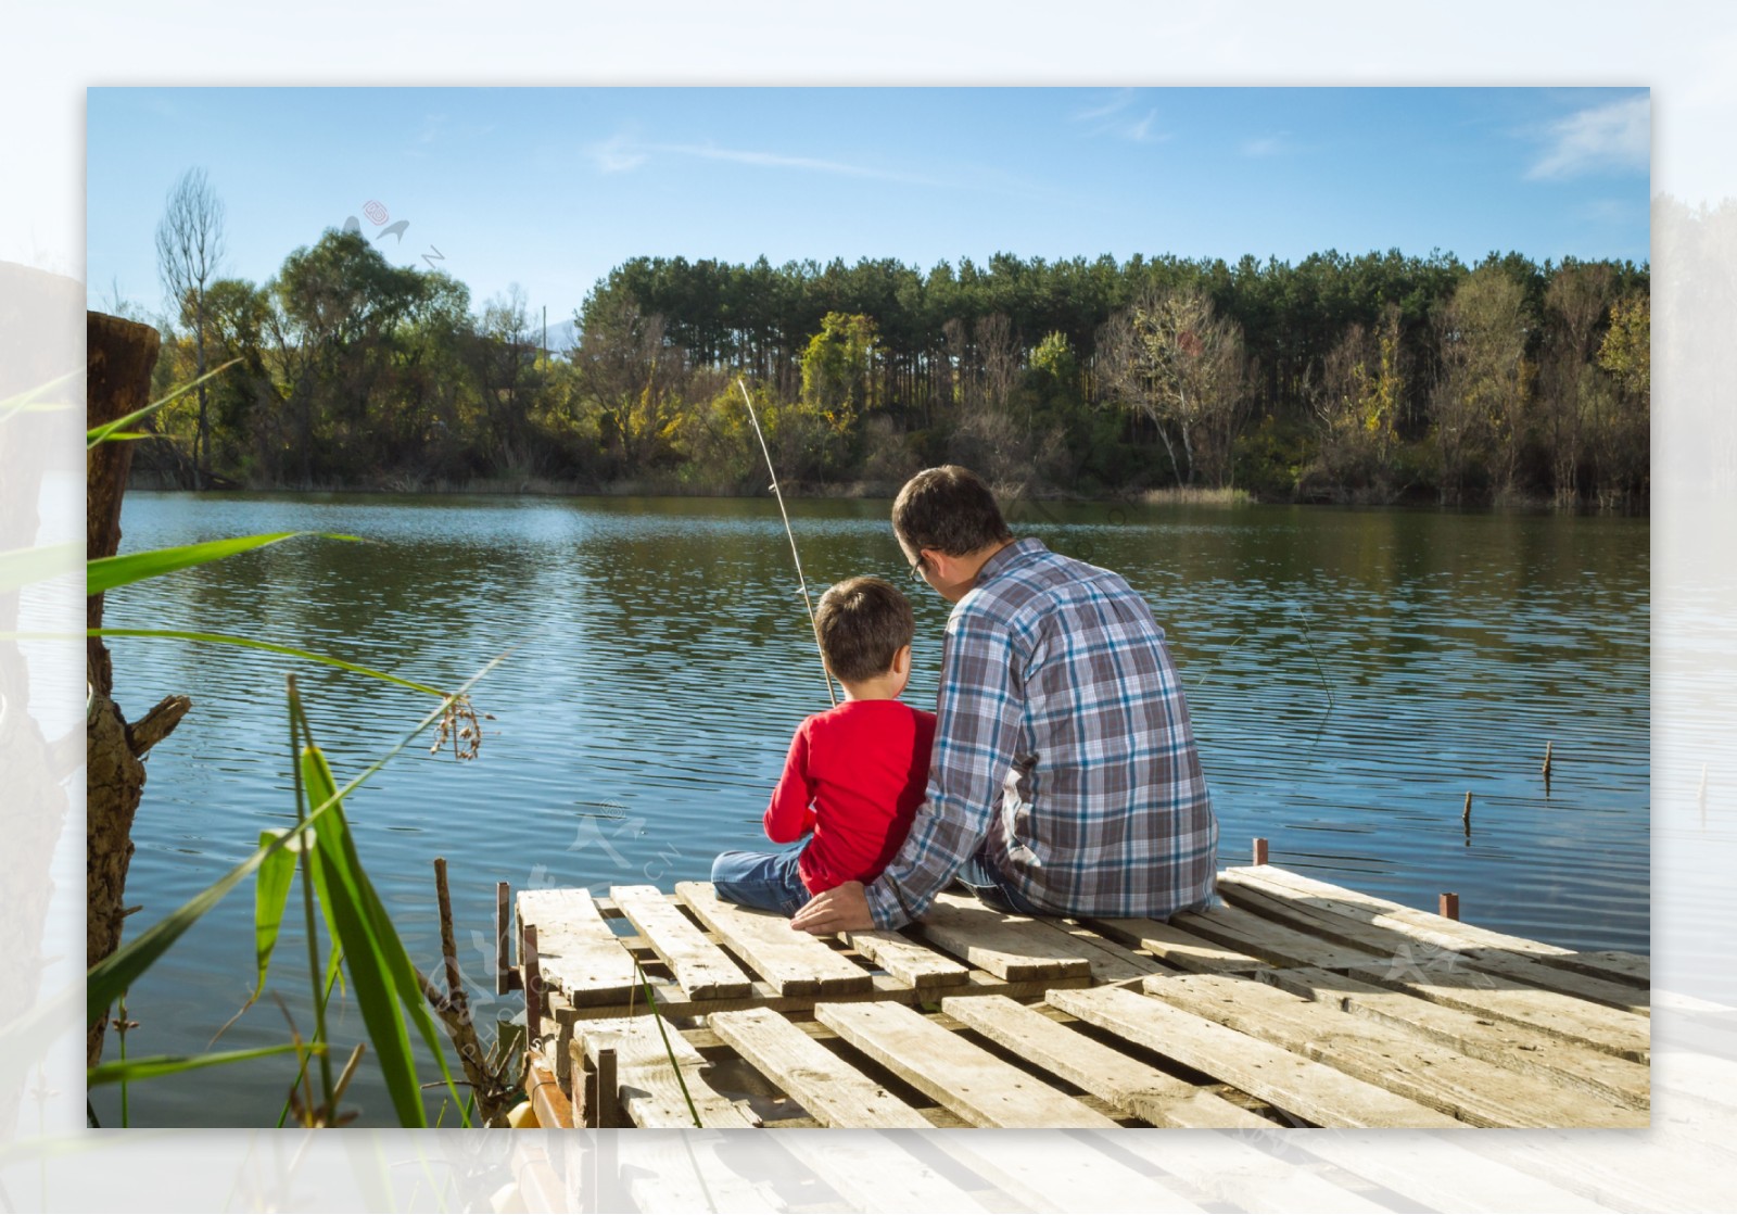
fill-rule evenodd
<path id="1" fill-rule="evenodd" d="M 163 309 L 189 167 L 228 275 L 354 217 L 551 325 L 636 256 L 1643 262 L 1650 122 L 1647 89 L 90 89 L 85 282 Z"/>

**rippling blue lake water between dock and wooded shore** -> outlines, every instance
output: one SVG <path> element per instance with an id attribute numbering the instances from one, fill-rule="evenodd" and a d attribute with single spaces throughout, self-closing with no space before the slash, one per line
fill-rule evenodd
<path id="1" fill-rule="evenodd" d="M 933 707 L 948 605 L 912 584 L 884 501 L 792 502 L 815 596 L 879 574 L 917 610 L 907 700 Z M 1648 951 L 1647 520 L 1332 508 L 1016 504 L 1014 532 L 1119 570 L 1164 626 L 1221 826 L 1273 864 L 1577 949 Z M 297 539 L 111 593 L 109 626 L 234 633 L 436 687 L 505 661 L 472 699 L 481 754 L 433 735 L 347 800 L 361 857 L 417 963 L 439 959 L 433 859 L 452 869 L 485 1020 L 497 881 L 705 878 L 754 847 L 796 723 L 827 706 L 790 546 L 768 499 L 127 495 L 122 551 L 252 532 Z M 278 655 L 116 640 L 115 697 L 193 713 L 153 751 L 132 932 L 294 822 L 283 676 L 297 671 L 339 780 L 433 699 Z M 1553 773 L 1539 768 L 1551 746 Z M 1461 820 L 1473 794 L 1470 831 Z M 299 895 L 295 895 L 299 900 Z M 290 909 L 267 991 L 311 1031 Z M 297 970 L 297 963 L 302 970 Z M 254 979 L 250 890 L 132 991 L 129 1053 L 207 1048 Z M 340 1005 L 334 1041 L 361 1032 Z M 262 999 L 221 1046 L 285 1041 Z M 113 1034 L 104 1057 L 116 1055 Z M 281 1059 L 135 1085 L 134 1125 L 271 1125 Z M 365 1066 L 346 1104 L 386 1125 Z M 118 1125 L 118 1093 L 94 1105 Z M 446 1114 L 448 1123 L 452 1112 Z"/>

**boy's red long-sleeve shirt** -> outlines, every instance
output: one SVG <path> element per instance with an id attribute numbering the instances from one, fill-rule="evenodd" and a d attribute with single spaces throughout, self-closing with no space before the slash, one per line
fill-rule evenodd
<path id="1" fill-rule="evenodd" d="M 903 700 L 846 700 L 797 727 L 766 807 L 766 838 L 802 848 L 809 893 L 874 881 L 898 853 L 929 780 L 935 714 Z"/>

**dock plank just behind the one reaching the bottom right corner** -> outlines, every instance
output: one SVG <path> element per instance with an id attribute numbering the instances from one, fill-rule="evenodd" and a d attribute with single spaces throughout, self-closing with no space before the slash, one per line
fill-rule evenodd
<path id="1" fill-rule="evenodd" d="M 1652 1072 L 1645 1064 L 1553 1038 L 1529 1026 L 1445 1008 L 1331 970 L 1268 970 L 1256 977 L 1499 1067 L 1549 1076 L 1560 1085 L 1610 1097 L 1636 1109 L 1650 1105 Z"/>

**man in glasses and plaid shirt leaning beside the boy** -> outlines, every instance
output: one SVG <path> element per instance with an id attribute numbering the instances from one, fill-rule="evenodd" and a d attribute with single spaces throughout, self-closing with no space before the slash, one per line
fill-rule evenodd
<path id="1" fill-rule="evenodd" d="M 893 502 L 912 577 L 954 603 L 928 800 L 868 886 L 790 921 L 896 928 L 959 876 L 1021 914 L 1155 916 L 1212 900 L 1212 819 L 1176 667 L 1117 574 L 1014 541 L 973 473 L 931 468 Z"/>

